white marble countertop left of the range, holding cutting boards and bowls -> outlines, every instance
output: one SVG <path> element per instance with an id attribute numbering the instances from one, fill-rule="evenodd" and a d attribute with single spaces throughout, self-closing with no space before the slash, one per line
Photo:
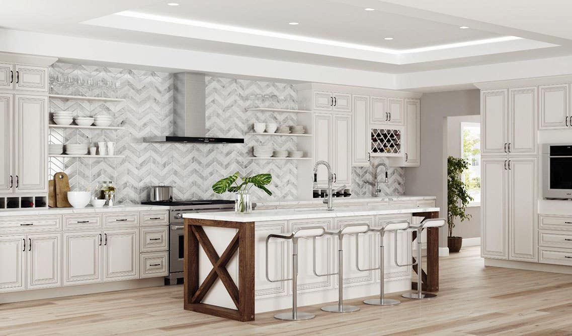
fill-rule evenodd
<path id="1" fill-rule="evenodd" d="M 23 209 L 1 209 L 0 217 L 7 216 L 30 216 L 30 215 L 73 215 L 73 214 L 93 214 L 93 213 L 124 213 L 129 211 L 153 211 L 153 210 L 169 210 L 168 206 L 161 205 L 141 205 L 128 204 L 116 205 L 112 207 L 42 207 L 42 208 L 23 208 Z"/>

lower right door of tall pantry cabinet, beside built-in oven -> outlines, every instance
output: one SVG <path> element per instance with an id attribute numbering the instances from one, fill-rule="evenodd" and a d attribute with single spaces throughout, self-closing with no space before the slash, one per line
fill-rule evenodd
<path id="1" fill-rule="evenodd" d="M 510 158 L 509 204 L 509 259 L 537 261 L 537 158 Z"/>

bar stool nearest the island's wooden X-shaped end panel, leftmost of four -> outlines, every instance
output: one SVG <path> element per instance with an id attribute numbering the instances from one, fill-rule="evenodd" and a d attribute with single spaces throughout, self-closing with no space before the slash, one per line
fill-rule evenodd
<path id="1" fill-rule="evenodd" d="M 321 237 L 324 235 L 325 229 L 321 226 L 304 227 L 294 231 L 290 235 L 284 234 L 269 234 L 266 237 L 266 279 L 269 282 L 282 282 L 292 280 L 292 312 L 291 313 L 280 313 L 274 315 L 274 318 L 285 319 L 288 321 L 300 321 L 304 319 L 312 319 L 316 317 L 314 314 L 310 313 L 298 313 L 298 239 L 299 238 L 313 238 Z M 268 241 L 271 238 L 278 239 L 291 239 L 292 240 L 292 278 L 288 279 L 275 279 L 272 280 L 268 275 Z"/>

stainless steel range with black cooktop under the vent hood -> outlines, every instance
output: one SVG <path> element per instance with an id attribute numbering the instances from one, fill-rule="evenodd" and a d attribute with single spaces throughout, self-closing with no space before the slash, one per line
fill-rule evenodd
<path id="1" fill-rule="evenodd" d="M 184 213 L 212 213 L 215 211 L 235 210 L 235 201 L 202 200 L 202 201 L 160 201 L 141 202 L 146 205 L 169 206 L 169 276 L 165 284 L 176 285 L 177 280 L 183 278 L 184 261 Z"/>

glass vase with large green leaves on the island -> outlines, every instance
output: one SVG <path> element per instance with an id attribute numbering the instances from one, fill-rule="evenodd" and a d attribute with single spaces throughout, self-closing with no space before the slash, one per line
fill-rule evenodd
<path id="1" fill-rule="evenodd" d="M 225 177 L 217 181 L 212 189 L 217 194 L 223 194 L 225 192 L 236 193 L 235 200 L 235 212 L 236 213 L 251 213 L 252 212 L 252 202 L 250 199 L 249 191 L 253 186 L 264 190 L 268 195 L 272 195 L 272 191 L 268 190 L 266 187 L 270 182 L 272 182 L 271 174 L 258 174 L 251 177 L 240 177 L 243 181 L 242 183 L 237 183 L 239 179 L 239 172 L 232 174 L 229 177 Z"/>

